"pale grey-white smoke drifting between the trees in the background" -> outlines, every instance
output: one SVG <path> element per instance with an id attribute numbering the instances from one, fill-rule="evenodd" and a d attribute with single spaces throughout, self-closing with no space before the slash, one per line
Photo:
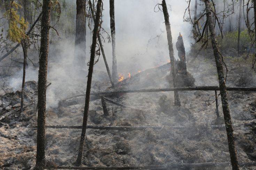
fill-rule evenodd
<path id="1" fill-rule="evenodd" d="M 66 1 L 70 8 L 75 7 L 75 1 Z M 115 1 L 115 24 L 116 24 L 116 57 L 118 73 L 128 73 L 131 75 L 137 74 L 139 70 L 163 65 L 170 60 L 166 30 L 164 24 L 163 12 L 158 10 L 160 0 L 116 0 Z M 185 1 L 167 0 L 168 11 L 170 15 L 170 24 L 172 31 L 172 42 L 174 56 L 177 56 L 175 43 L 179 32 L 183 34 L 185 50 L 190 48 L 190 29 L 191 25 L 183 22 L 184 10 L 187 7 Z M 156 6 L 156 7 L 155 7 Z M 110 34 L 110 17 L 109 17 L 109 2 L 103 1 L 103 23 L 102 27 Z M 154 11 L 155 8 L 155 11 Z M 162 7 L 160 6 L 160 9 Z M 86 35 L 86 63 L 83 69 L 79 69 L 72 64 L 74 57 L 74 38 L 67 38 L 68 24 L 74 22 L 76 12 L 71 12 L 71 17 L 64 16 L 62 10 L 60 23 L 56 25 L 60 36 L 56 38 L 55 31 L 51 30 L 50 39 L 55 39 L 50 42 L 49 60 L 48 60 L 48 83 L 52 83 L 47 88 L 47 108 L 57 107 L 60 100 L 70 97 L 77 93 L 84 93 L 86 89 L 86 76 L 88 66 L 86 65 L 90 59 L 90 46 L 92 43 L 92 32 L 88 26 Z M 65 20 L 67 19 L 67 20 Z M 61 21 L 66 23 L 61 23 Z M 64 25 L 64 28 L 62 28 Z M 73 30 L 75 25 L 71 25 Z M 70 31 L 72 32 L 72 31 Z M 72 35 L 72 34 L 71 34 Z M 71 36 L 70 35 L 70 36 Z M 104 38 L 106 33 L 102 34 Z M 72 37 L 72 36 L 71 36 Z M 112 46 L 105 39 L 103 42 L 104 51 L 106 53 L 109 68 L 112 68 Z M 31 52 L 33 52 L 31 48 Z M 83 49 L 79 50 L 83 53 Z M 38 53 L 31 53 L 34 58 L 37 58 Z M 20 56 L 22 57 L 22 56 Z M 29 56 L 31 57 L 31 56 Z M 29 61 L 28 61 L 29 62 Z M 93 80 L 102 80 L 100 74 L 95 74 L 98 71 L 105 71 L 106 67 L 102 56 L 99 57 L 99 62 L 94 66 Z M 14 90 L 21 89 L 22 70 L 18 71 L 10 80 L 10 86 Z M 103 74 L 106 79 L 106 73 Z M 98 77 L 97 77 L 98 76 Z M 38 80 L 38 69 L 30 66 L 26 69 L 26 81 Z"/>

